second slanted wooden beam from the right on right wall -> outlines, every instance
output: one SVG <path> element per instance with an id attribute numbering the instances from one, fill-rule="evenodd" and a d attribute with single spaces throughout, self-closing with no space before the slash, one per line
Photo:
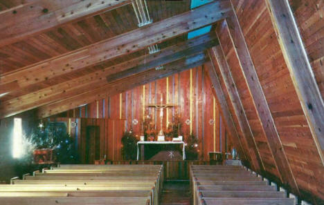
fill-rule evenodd
<path id="1" fill-rule="evenodd" d="M 233 8 L 231 17 L 226 18 L 226 28 L 228 35 L 231 37 L 233 48 L 237 59 L 240 62 L 240 68 L 248 85 L 249 92 L 253 98 L 255 109 L 262 123 L 264 133 L 267 137 L 269 148 L 278 166 L 279 173 L 282 175 L 283 183 L 289 184 L 292 191 L 299 194 L 294 174 L 292 173 L 285 149 L 282 146 L 280 136 L 278 134 L 276 124 L 273 121 L 271 111 L 264 96 L 257 72 L 253 65 L 249 48 L 246 45 L 240 23 Z"/>

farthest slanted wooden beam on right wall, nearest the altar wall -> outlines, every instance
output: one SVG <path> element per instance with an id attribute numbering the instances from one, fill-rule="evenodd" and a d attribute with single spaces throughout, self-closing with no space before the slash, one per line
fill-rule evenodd
<path id="1" fill-rule="evenodd" d="M 238 153 L 240 153 L 240 156 L 245 160 L 246 159 L 251 160 L 251 157 L 249 157 L 249 155 L 246 155 L 248 153 L 244 152 L 244 148 L 242 146 L 242 139 L 241 139 L 240 135 L 237 133 L 237 129 L 235 127 L 232 115 L 229 111 L 228 104 L 224 97 L 224 92 L 223 92 L 222 87 L 219 83 L 219 79 L 216 75 L 215 68 L 213 68 L 213 66 L 214 65 L 212 63 L 209 63 L 209 64 L 206 64 L 205 68 L 206 68 L 206 71 L 208 72 L 208 76 L 210 78 L 210 81 L 214 88 L 215 94 L 217 96 L 216 98 L 217 98 L 218 104 L 221 108 L 221 113 L 224 118 L 226 127 L 228 128 L 228 132 L 230 133 L 230 135 L 233 138 L 237 139 L 237 141 L 233 139 L 233 142 L 234 143 L 236 142 L 237 151 L 238 151 Z"/>

